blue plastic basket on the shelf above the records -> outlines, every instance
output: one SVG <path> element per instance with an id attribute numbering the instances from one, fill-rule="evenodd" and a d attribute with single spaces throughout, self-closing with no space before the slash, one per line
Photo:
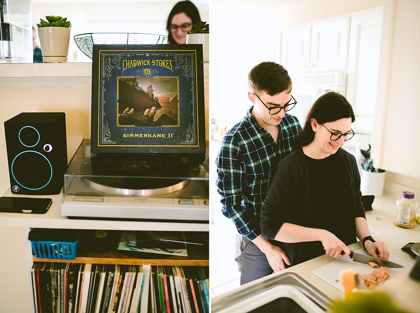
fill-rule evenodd
<path id="1" fill-rule="evenodd" d="M 32 251 L 37 258 L 73 260 L 76 258 L 79 237 L 75 242 L 31 241 Z"/>

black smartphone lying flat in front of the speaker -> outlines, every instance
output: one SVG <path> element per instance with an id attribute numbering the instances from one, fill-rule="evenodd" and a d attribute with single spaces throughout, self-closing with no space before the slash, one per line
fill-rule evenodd
<path id="1" fill-rule="evenodd" d="M 0 197 L 0 212 L 44 214 L 51 203 L 50 198 Z"/>

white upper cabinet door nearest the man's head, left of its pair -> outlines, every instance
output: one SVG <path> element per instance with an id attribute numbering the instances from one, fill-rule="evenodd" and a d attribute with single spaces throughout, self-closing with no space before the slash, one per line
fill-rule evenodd
<path id="1" fill-rule="evenodd" d="M 281 65 L 289 72 L 308 72 L 310 53 L 310 26 L 283 31 Z"/>

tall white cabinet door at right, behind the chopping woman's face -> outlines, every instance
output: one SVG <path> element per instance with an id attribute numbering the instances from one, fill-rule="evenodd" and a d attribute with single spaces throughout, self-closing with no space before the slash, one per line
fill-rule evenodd
<path id="1" fill-rule="evenodd" d="M 382 9 L 352 16 L 346 96 L 359 118 L 353 130 L 372 134 L 381 47 Z"/>

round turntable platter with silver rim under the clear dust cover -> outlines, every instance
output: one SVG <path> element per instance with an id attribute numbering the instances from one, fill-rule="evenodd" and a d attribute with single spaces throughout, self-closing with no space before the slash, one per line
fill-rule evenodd
<path id="1" fill-rule="evenodd" d="M 189 179 L 134 178 L 134 177 L 81 177 L 87 186 L 118 196 L 156 196 L 181 190 Z"/>

